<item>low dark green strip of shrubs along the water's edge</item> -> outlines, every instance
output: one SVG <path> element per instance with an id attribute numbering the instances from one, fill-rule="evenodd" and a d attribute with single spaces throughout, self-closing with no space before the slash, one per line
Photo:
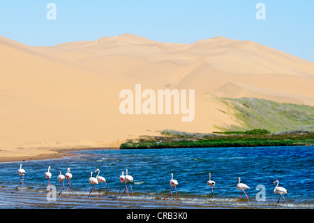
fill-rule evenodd
<path id="1" fill-rule="evenodd" d="M 146 148 L 209 148 L 209 147 L 253 147 L 282 145 L 313 145 L 314 133 L 280 133 L 280 134 L 183 134 L 167 130 L 166 136 L 141 136 L 137 141 L 121 144 L 121 149 Z M 253 131 L 255 132 L 255 131 Z M 262 131 L 263 133 L 264 131 Z"/>

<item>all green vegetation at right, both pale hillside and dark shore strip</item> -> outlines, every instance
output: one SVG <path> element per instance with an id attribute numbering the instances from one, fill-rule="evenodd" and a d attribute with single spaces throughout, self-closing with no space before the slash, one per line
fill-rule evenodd
<path id="1" fill-rule="evenodd" d="M 219 99 L 239 125 L 213 134 L 164 130 L 161 136 L 141 136 L 121 149 L 253 147 L 314 144 L 314 107 L 264 99 Z M 223 111 L 224 112 L 224 111 Z M 250 129 L 250 130 L 248 130 Z"/>

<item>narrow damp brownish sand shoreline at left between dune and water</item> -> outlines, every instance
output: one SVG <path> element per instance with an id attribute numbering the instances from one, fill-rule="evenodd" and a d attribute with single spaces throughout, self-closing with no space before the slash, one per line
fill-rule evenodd
<path id="1" fill-rule="evenodd" d="M 59 159 L 61 157 L 72 157 L 75 156 L 73 152 L 83 150 L 119 150 L 119 148 L 72 148 L 72 149 L 61 149 L 55 148 L 50 149 L 50 154 L 35 154 L 31 156 L 17 156 L 17 157 L 0 157 L 0 162 L 13 162 L 13 161 L 31 161 L 31 160 L 43 160 L 43 159 Z"/>

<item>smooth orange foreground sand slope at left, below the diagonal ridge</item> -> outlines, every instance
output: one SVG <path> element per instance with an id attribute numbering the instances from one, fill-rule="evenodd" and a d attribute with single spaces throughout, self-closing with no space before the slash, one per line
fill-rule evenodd
<path id="1" fill-rule="evenodd" d="M 214 123 L 232 122 L 225 114 L 209 122 L 203 106 L 209 117 L 223 105 L 200 97 L 196 101 L 207 101 L 195 102 L 200 113 L 194 122 L 181 122 L 181 115 L 121 115 L 119 92 L 134 91 L 138 80 L 98 72 L 3 37 L 0 50 L 0 157 L 54 154 L 49 148 L 119 146 L 126 138 L 156 130 L 211 131 Z M 159 88 L 141 83 L 143 89 Z"/>

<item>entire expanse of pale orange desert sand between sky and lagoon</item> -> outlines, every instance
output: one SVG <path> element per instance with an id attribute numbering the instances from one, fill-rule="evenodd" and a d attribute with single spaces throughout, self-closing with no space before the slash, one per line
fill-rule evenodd
<path id="1" fill-rule="evenodd" d="M 0 36 L 0 161 L 119 148 L 128 138 L 174 129 L 239 125 L 220 97 L 314 106 L 314 63 L 224 37 L 160 43 L 133 34 L 31 47 Z M 119 92 L 195 89 L 195 119 L 122 115 Z"/>

